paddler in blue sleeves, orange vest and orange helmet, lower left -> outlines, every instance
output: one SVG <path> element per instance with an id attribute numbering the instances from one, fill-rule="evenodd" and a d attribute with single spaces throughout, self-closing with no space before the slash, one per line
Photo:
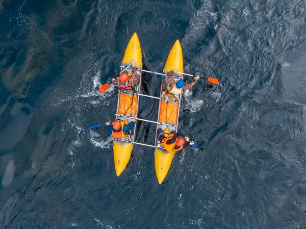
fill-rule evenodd
<path id="1" fill-rule="evenodd" d="M 120 139 L 126 137 L 130 130 L 135 128 L 136 116 L 133 117 L 133 122 L 128 123 L 126 120 L 123 121 L 110 121 L 105 123 L 107 125 L 107 133 L 113 135 L 113 138 Z"/>

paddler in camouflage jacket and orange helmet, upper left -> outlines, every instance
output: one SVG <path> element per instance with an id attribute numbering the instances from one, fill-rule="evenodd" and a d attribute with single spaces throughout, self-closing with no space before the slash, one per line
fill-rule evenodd
<path id="1" fill-rule="evenodd" d="M 132 74 L 129 75 L 125 71 L 119 77 L 113 78 L 113 85 L 117 85 L 120 90 L 130 91 L 132 88 L 137 87 L 140 81 L 140 75 L 137 74 L 135 67 L 135 60 L 132 60 Z"/>

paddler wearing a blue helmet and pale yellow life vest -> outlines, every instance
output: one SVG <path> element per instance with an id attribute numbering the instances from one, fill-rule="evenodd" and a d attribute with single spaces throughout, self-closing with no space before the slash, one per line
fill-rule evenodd
<path id="1" fill-rule="evenodd" d="M 169 97 L 175 96 L 177 98 L 182 91 L 192 88 L 195 82 L 200 79 L 200 77 L 196 75 L 193 82 L 190 84 L 185 84 L 181 79 L 174 80 L 172 78 L 175 73 L 176 70 L 167 72 L 167 76 L 162 80 L 162 90 L 166 92 Z"/>

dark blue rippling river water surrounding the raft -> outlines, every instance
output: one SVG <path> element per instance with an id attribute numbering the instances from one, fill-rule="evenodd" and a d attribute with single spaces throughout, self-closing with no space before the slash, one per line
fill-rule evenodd
<path id="1" fill-rule="evenodd" d="M 162 185 L 154 150 L 134 147 L 117 177 L 111 138 L 119 72 L 138 34 L 162 71 L 179 39 L 180 131 L 202 143 Z M 306 228 L 305 0 L 0 0 L 0 229 Z M 142 93 L 160 77 L 143 74 Z M 139 117 L 156 120 L 141 98 Z M 154 142 L 139 122 L 136 139 Z"/>

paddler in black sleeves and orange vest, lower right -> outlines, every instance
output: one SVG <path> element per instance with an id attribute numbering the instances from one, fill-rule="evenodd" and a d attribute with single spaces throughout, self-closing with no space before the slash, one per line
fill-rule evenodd
<path id="1" fill-rule="evenodd" d="M 161 144 L 168 152 L 177 152 L 190 145 L 189 138 L 183 133 L 172 131 L 170 134 L 166 134 L 166 136 L 164 134 L 161 128 L 157 130 L 159 138 L 157 147 L 160 147 Z"/>

